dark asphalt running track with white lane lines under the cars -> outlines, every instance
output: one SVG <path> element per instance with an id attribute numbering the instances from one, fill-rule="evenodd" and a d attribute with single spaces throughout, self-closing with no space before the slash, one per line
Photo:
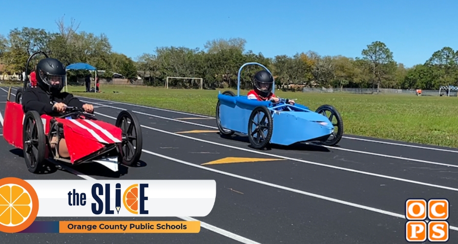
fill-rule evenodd
<path id="1" fill-rule="evenodd" d="M 0 88 L 1 115 L 7 89 Z M 80 99 L 96 106 L 96 116 L 106 122 L 114 123 L 123 109 L 134 111 L 144 140 L 139 166 L 121 166 L 114 173 L 99 164 L 71 168 L 52 164 L 50 172 L 34 175 L 21 150 L 1 140 L 0 178 L 216 180 L 213 210 L 196 218 L 202 222 L 201 232 L 1 234 L 1 243 L 398 244 L 407 243 L 403 216 L 408 198 L 448 199 L 449 241 L 457 242 L 458 149 L 345 135 L 339 147 L 300 145 L 259 151 L 248 146 L 247 138 L 221 138 L 213 132 L 217 128 L 211 117 Z M 195 130 L 201 132 L 189 132 Z M 227 157 L 276 161 L 201 165 Z M 100 219 L 104 218 L 87 220 Z M 142 220 L 125 218 L 132 219 Z"/>

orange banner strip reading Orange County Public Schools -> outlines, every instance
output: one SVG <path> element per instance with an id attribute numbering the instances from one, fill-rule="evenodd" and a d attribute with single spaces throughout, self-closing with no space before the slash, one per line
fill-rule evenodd
<path id="1" fill-rule="evenodd" d="M 200 221 L 59 221 L 59 233 L 199 233 Z"/>

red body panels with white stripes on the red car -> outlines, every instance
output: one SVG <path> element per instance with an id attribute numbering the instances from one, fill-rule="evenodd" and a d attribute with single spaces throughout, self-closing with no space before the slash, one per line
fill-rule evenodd
<path id="1" fill-rule="evenodd" d="M 3 138 L 17 148 L 23 148 L 22 129 L 25 114 L 22 105 L 16 102 L 6 102 Z M 122 142 L 122 130 L 113 124 L 85 119 L 63 119 L 42 115 L 45 135 L 49 133 L 50 121 L 62 123 L 63 134 L 70 154 L 70 161 L 82 159 L 94 152 L 103 149 L 108 144 Z"/>

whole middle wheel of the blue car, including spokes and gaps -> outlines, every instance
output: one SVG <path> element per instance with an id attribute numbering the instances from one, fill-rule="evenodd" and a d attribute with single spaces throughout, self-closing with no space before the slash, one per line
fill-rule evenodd
<path id="1" fill-rule="evenodd" d="M 271 141 L 272 131 L 273 120 L 271 111 L 265 106 L 254 108 L 248 121 L 248 139 L 251 146 L 256 149 L 266 147 Z"/>

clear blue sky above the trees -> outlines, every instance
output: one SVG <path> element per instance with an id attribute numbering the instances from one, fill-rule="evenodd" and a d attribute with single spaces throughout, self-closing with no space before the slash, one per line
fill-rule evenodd
<path id="1" fill-rule="evenodd" d="M 157 46 L 203 49 L 240 37 L 267 57 L 315 51 L 361 56 L 383 41 L 397 62 L 423 63 L 444 46 L 458 49 L 456 0 L 79 0 L 4 1 L 0 34 L 23 26 L 57 31 L 75 18 L 79 31 L 105 33 L 113 51 L 135 59 Z M 42 10 L 40 10 L 42 9 Z"/>

